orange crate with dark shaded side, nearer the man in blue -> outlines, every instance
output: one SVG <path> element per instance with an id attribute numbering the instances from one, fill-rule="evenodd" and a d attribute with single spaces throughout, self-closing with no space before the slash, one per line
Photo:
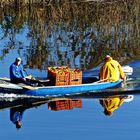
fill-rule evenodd
<path id="1" fill-rule="evenodd" d="M 52 74 L 48 72 L 48 78 L 50 80 L 50 85 L 62 86 L 69 84 L 69 73 L 61 75 L 61 74 Z"/>

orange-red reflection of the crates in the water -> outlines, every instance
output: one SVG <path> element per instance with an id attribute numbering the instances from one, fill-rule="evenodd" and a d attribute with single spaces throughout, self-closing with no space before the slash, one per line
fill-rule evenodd
<path id="1" fill-rule="evenodd" d="M 82 100 L 58 100 L 48 103 L 48 109 L 59 111 L 59 110 L 71 110 L 73 108 L 82 108 Z"/>

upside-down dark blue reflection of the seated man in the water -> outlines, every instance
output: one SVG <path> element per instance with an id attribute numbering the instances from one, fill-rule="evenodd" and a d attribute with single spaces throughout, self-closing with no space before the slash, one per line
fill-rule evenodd
<path id="1" fill-rule="evenodd" d="M 10 109 L 10 120 L 16 125 L 16 128 L 21 128 L 21 120 L 23 117 L 23 113 L 25 108 L 11 108 Z"/>

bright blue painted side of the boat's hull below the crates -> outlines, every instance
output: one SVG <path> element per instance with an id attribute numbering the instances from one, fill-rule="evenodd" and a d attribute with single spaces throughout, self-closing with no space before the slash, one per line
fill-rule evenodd
<path id="1" fill-rule="evenodd" d="M 26 94 L 33 96 L 47 96 L 47 95 L 66 95 L 85 92 L 96 92 L 99 90 L 115 88 L 120 86 L 121 80 L 117 82 L 104 82 L 104 83 L 91 83 L 82 85 L 69 85 L 69 86 L 52 86 L 41 87 L 35 90 L 27 90 Z"/>

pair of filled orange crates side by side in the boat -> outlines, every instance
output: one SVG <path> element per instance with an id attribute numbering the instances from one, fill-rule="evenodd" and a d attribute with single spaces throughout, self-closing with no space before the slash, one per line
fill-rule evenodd
<path id="1" fill-rule="evenodd" d="M 82 84 L 82 71 L 67 66 L 48 67 L 48 78 L 55 86 Z"/>

